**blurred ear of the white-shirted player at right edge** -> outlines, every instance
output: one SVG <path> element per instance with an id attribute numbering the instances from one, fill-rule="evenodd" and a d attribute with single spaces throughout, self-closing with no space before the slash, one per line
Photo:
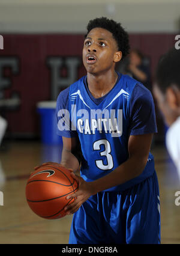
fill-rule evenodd
<path id="1" fill-rule="evenodd" d="M 172 110 L 176 110 L 179 107 L 179 90 L 175 85 L 167 88 L 166 99 Z"/>

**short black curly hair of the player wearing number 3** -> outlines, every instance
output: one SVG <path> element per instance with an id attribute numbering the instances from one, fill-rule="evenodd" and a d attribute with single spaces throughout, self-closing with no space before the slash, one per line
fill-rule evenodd
<path id="1" fill-rule="evenodd" d="M 115 20 L 110 20 L 106 17 L 89 20 L 85 37 L 93 28 L 104 28 L 110 31 L 118 44 L 118 50 L 122 52 L 122 58 L 128 55 L 130 51 L 129 36 L 124 28 L 122 28 L 121 23 L 117 23 Z"/>

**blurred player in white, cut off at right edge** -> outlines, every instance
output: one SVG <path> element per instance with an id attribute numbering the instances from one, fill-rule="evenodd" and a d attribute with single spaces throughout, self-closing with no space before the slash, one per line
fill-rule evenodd
<path id="1" fill-rule="evenodd" d="M 171 49 L 159 61 L 153 92 L 169 129 L 166 145 L 180 179 L 180 50 Z"/>

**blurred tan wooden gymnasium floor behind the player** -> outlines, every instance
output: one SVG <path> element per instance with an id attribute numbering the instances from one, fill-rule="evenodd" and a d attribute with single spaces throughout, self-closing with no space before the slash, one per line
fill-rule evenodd
<path id="1" fill-rule="evenodd" d="M 151 150 L 155 158 L 161 200 L 161 243 L 180 243 L 180 206 L 175 192 L 180 190 L 178 175 L 164 146 Z M 9 142 L 0 152 L 0 243 L 68 243 L 72 216 L 46 220 L 29 209 L 25 198 L 28 175 L 40 163 L 61 160 L 61 145 L 47 146 L 34 141 Z M 58 160 L 59 159 L 59 160 Z M 3 182 L 4 180 L 4 182 Z"/>

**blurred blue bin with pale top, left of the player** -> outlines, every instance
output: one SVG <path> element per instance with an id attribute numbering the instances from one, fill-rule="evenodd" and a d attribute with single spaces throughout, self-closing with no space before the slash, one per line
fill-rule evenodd
<path id="1" fill-rule="evenodd" d="M 56 102 L 38 102 L 37 112 L 41 116 L 41 141 L 43 144 L 62 144 L 62 137 L 56 133 Z"/>

